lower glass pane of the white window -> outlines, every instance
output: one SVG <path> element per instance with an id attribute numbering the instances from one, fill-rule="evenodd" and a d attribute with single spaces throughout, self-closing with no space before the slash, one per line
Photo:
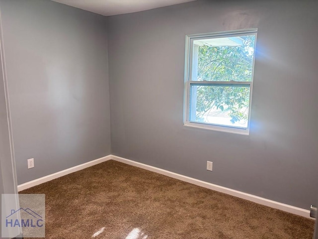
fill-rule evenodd
<path id="1" fill-rule="evenodd" d="M 247 127 L 249 85 L 190 86 L 190 121 Z"/>

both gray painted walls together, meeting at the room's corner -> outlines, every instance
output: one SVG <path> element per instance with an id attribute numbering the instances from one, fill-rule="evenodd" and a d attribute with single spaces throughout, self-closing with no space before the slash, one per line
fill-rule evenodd
<path id="1" fill-rule="evenodd" d="M 198 0 L 107 19 L 0 0 L 18 184 L 112 152 L 308 209 L 318 200 L 317 7 Z M 185 35 L 252 27 L 250 135 L 183 126 Z"/>

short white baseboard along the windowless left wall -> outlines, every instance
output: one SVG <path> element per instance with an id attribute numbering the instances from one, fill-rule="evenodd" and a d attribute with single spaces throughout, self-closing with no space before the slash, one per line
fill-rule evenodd
<path id="1" fill-rule="evenodd" d="M 90 166 L 105 162 L 105 161 L 107 161 L 109 159 L 111 159 L 111 155 L 108 155 L 108 156 L 105 156 L 105 157 L 101 157 L 101 158 L 89 161 L 87 163 L 79 164 L 79 165 L 74 166 L 72 168 L 67 168 L 67 169 L 62 170 L 60 172 L 56 172 L 56 173 L 44 176 L 42 178 L 34 179 L 32 181 L 29 181 L 29 182 L 26 182 L 26 183 L 18 185 L 18 191 L 20 192 L 22 190 L 34 187 L 34 186 L 39 185 L 41 183 L 45 183 L 45 182 L 51 181 L 53 179 L 65 176 L 67 174 L 74 173 L 76 171 L 82 170 L 84 168 L 88 168 Z"/>

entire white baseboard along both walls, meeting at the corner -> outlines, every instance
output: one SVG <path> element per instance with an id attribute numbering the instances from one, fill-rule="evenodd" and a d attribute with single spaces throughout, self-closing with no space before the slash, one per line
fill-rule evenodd
<path id="1" fill-rule="evenodd" d="M 62 170 L 60 172 L 56 172 L 56 173 L 44 176 L 42 178 L 38 178 L 38 179 L 32 180 L 30 182 L 26 182 L 26 183 L 20 184 L 20 185 L 18 185 L 18 191 L 22 191 L 24 189 L 28 189 L 28 188 L 34 187 L 34 186 L 39 185 L 41 183 L 45 183 L 45 182 L 51 181 L 53 179 L 62 177 L 64 175 L 67 175 L 67 174 L 70 174 L 70 173 L 73 173 L 73 172 L 76 172 L 76 171 L 79 171 L 79 170 L 84 169 L 84 168 L 88 168 L 90 166 L 105 162 L 105 161 L 110 160 L 110 159 L 116 160 L 118 162 L 126 163 L 126 164 L 129 164 L 129 165 L 132 165 L 132 166 L 136 166 L 136 167 L 139 167 L 139 168 L 147 169 L 147 170 L 152 171 L 152 172 L 156 172 L 156 173 L 159 173 L 159 174 L 171 177 L 171 178 L 179 179 L 181 181 L 188 182 L 188 183 L 191 183 L 191 184 L 195 184 L 195 185 L 198 185 L 198 186 L 201 186 L 201 187 L 204 187 L 204 188 L 208 188 L 208 189 L 211 189 L 211 190 L 215 190 L 215 191 L 218 191 L 218 192 L 221 192 L 221 193 L 226 193 L 226 194 L 229 194 L 229 195 L 241 198 L 241 199 L 245 199 L 245 200 L 248 200 L 248 201 L 251 201 L 251 202 L 254 202 L 254 203 L 258 203 L 258 204 L 261 204 L 261 205 L 264 205 L 264 206 L 268 206 L 268 207 L 271 207 L 271 208 L 276 208 L 276 209 L 279 209 L 279 210 L 282 210 L 282 211 L 285 211 L 285 212 L 288 212 L 288 213 L 292 213 L 292 214 L 295 214 L 295 215 L 303 216 L 305 218 L 313 219 L 313 218 L 310 217 L 310 211 L 306 210 L 306 209 L 294 207 L 294 206 L 291 206 L 291 205 L 288 205 L 288 204 L 284 204 L 284 203 L 279 203 L 279 202 L 276 202 L 276 201 L 273 201 L 273 200 L 269 200 L 269 199 L 266 199 L 266 198 L 261 198 L 261 197 L 258 197 L 258 196 L 252 195 L 252 194 L 243 193 L 243 192 L 240 192 L 240 191 L 237 191 L 237 190 L 234 190 L 234 189 L 230 189 L 230 188 L 222 187 L 222 186 L 219 186 L 219 185 L 216 185 L 216 184 L 204 182 L 204 181 L 201 181 L 201 180 L 198 180 L 198 179 L 195 179 L 195 178 L 190 178 L 190 177 L 187 177 L 187 176 L 184 176 L 184 175 L 181 175 L 181 174 L 173 173 L 173 172 L 161 169 L 161 168 L 150 166 L 150 165 L 147 165 L 147 164 L 144 164 L 144 163 L 139 163 L 139 162 L 136 162 L 136 161 L 133 161 L 133 160 L 130 160 L 130 159 L 118 157 L 118 156 L 111 155 L 111 154 L 108 155 L 108 156 L 102 157 L 102 158 L 98 158 L 98 159 L 89 161 L 87 163 L 83 163 L 83 164 L 77 165 L 77 166 L 72 167 L 72 168 L 68 168 L 68 169 Z"/>

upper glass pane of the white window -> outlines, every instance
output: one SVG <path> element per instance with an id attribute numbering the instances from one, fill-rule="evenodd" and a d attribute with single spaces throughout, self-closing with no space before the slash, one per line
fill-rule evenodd
<path id="1" fill-rule="evenodd" d="M 193 81 L 252 81 L 255 35 L 193 41 Z"/>

